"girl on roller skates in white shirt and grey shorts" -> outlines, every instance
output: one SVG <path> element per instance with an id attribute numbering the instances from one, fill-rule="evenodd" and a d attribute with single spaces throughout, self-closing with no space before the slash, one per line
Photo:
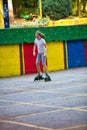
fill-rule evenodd
<path id="1" fill-rule="evenodd" d="M 41 68 L 40 68 L 40 61 L 42 61 L 43 69 L 45 71 L 44 79 L 45 79 L 45 81 L 51 81 L 50 76 L 48 75 L 48 70 L 47 70 L 47 66 L 46 66 L 47 47 L 46 47 L 46 41 L 44 39 L 45 36 L 39 31 L 36 31 L 35 36 L 36 36 L 36 38 L 34 41 L 33 56 L 36 55 L 36 47 L 37 47 L 38 54 L 37 54 L 37 58 L 36 58 L 36 68 L 37 68 L 38 74 L 34 80 L 43 79 L 42 73 L 41 73 Z"/>

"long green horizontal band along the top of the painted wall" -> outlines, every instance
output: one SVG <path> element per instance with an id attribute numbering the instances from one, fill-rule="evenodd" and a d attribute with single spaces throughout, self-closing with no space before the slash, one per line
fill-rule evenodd
<path id="1" fill-rule="evenodd" d="M 42 31 L 46 35 L 47 42 L 87 39 L 87 25 L 15 28 L 0 30 L 0 44 L 32 43 L 37 30 Z"/>

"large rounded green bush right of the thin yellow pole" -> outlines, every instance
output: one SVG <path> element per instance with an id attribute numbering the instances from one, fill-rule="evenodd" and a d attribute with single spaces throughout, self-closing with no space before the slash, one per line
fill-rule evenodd
<path id="1" fill-rule="evenodd" d="M 43 16 L 57 20 L 72 14 L 71 0 L 42 0 Z"/>

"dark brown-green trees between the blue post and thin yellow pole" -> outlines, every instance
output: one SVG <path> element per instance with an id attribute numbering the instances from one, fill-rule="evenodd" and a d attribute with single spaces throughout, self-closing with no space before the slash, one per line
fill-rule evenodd
<path id="1" fill-rule="evenodd" d="M 38 0 L 12 0 L 14 15 L 20 18 L 23 14 L 34 13 L 37 10 Z"/>

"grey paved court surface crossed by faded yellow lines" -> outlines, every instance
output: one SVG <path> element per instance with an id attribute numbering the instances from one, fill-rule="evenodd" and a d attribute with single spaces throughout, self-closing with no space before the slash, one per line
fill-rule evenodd
<path id="1" fill-rule="evenodd" d="M 0 78 L 0 130 L 87 130 L 87 67 Z"/>

